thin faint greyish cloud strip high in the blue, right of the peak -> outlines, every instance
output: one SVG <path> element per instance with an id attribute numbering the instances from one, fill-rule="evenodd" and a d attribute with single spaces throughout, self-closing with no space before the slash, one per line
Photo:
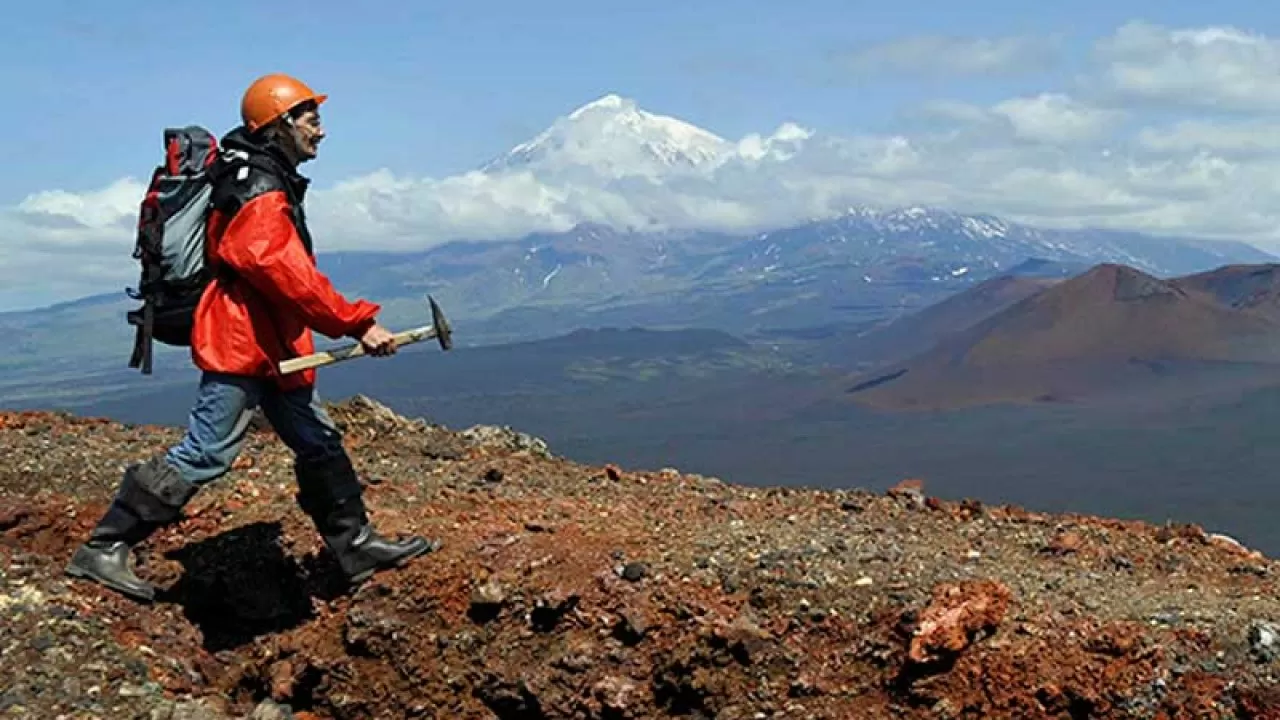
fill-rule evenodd
<path id="1" fill-rule="evenodd" d="M 858 74 L 978 76 L 1039 70 L 1055 59 L 1048 38 L 918 35 L 854 50 L 837 64 Z"/>

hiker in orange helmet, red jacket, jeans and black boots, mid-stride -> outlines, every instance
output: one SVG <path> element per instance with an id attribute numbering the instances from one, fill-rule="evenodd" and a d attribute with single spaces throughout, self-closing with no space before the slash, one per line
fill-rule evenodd
<path id="1" fill-rule="evenodd" d="M 189 345 L 202 375 L 187 430 L 178 445 L 125 470 L 69 575 L 154 600 L 155 588 L 129 566 L 131 550 L 230 470 L 255 407 L 293 452 L 296 501 L 352 584 L 439 547 L 374 530 L 342 434 L 315 392 L 315 370 L 276 370 L 288 356 L 314 352 L 312 329 L 358 340 L 370 355 L 396 352 L 394 337 L 375 319 L 380 307 L 347 300 L 315 265 L 302 209 L 310 181 L 297 167 L 315 159 L 325 137 L 319 108 L 326 97 L 283 74 L 244 92 L 243 124 L 220 141 L 210 165 L 211 279 L 195 307 Z"/>

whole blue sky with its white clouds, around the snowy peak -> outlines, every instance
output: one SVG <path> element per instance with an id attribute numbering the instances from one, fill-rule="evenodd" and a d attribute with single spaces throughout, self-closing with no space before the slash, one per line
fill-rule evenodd
<path id="1" fill-rule="evenodd" d="M 330 140 L 306 168 L 323 247 L 425 246 L 644 213 L 748 228 L 872 200 L 1265 246 L 1280 237 L 1270 179 L 1280 177 L 1271 140 L 1280 10 L 1266 3 L 364 8 L 45 0 L 8 9 L 0 311 L 122 287 L 134 273 L 128 225 L 140 197 L 127 178 L 136 183 L 159 160 L 166 126 L 233 127 L 244 86 L 275 70 L 332 96 Z M 1004 54 L 993 60 L 983 47 Z M 458 176 L 607 92 L 731 142 L 756 133 L 782 147 L 771 133 L 786 122 L 814 140 L 788 150 L 787 163 L 727 151 L 736 164 L 726 167 L 744 176 L 703 187 L 713 200 L 703 215 L 673 196 L 637 202 L 607 182 L 566 179 L 553 172 L 561 160 L 532 177 Z M 783 178 L 812 192 L 762 206 Z M 506 219 L 495 224 L 495 213 Z"/>

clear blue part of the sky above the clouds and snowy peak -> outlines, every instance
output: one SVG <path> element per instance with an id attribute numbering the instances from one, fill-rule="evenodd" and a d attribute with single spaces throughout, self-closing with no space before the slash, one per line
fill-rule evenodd
<path id="1" fill-rule="evenodd" d="M 1069 53 L 1128 19 L 1270 32 L 1257 1 L 860 3 L 771 0 L 335 0 L 19 3 L 0 26 L 0 201 L 88 190 L 152 161 L 160 128 L 237 122 L 239 92 L 283 69 L 330 91 L 319 182 L 390 168 L 445 174 L 617 91 L 737 137 L 786 119 L 831 132 L 891 126 L 936 83 L 841 78 L 832 55 L 916 33 L 1065 36 Z M 1211 9 L 1212 8 L 1212 9 Z M 1025 81 L 978 78 L 969 97 Z"/>

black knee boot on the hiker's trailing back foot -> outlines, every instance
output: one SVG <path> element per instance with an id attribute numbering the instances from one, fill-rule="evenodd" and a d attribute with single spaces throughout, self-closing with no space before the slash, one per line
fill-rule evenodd
<path id="1" fill-rule="evenodd" d="M 197 489 L 183 480 L 164 456 L 131 466 L 88 541 L 72 555 L 67 574 L 150 602 L 155 598 L 155 588 L 133 574 L 129 551 L 175 520 Z"/>

